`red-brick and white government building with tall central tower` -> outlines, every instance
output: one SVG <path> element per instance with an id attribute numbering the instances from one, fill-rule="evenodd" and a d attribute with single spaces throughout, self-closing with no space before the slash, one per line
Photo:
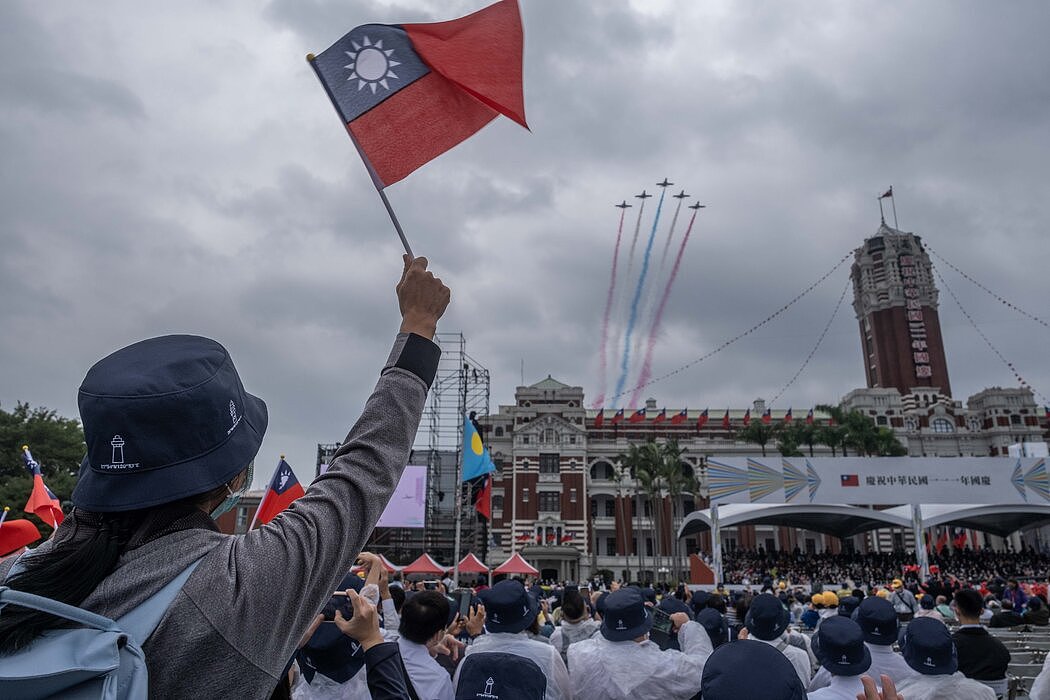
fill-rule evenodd
<path id="1" fill-rule="evenodd" d="M 1011 446 L 1041 443 L 1050 437 L 1047 410 L 1027 387 L 991 387 L 965 403 L 951 396 L 947 356 L 938 316 L 938 291 L 922 239 L 883 224 L 855 251 L 850 271 L 854 310 L 860 330 L 867 386 L 846 394 L 845 410 L 859 410 L 873 423 L 892 429 L 910 457 L 1005 457 Z M 699 403 L 699 400 L 698 400 Z M 668 407 L 665 420 L 655 400 L 647 401 L 646 418 L 630 422 L 642 406 L 627 407 L 613 424 L 611 410 L 601 423 L 598 411 L 585 409 L 581 386 L 547 377 L 519 386 L 512 405 L 484 417 L 484 440 L 497 465 L 492 489 L 495 548 L 489 560 L 519 551 L 545 578 L 583 579 L 598 572 L 624 579 L 677 579 L 688 572 L 688 553 L 710 553 L 707 533 L 675 543 L 682 516 L 706 508 L 707 460 L 760 457 L 757 445 L 737 440 L 750 411 L 761 420 L 761 399 L 751 405 L 711 412 Z M 772 410 L 774 423 L 784 410 Z M 794 420 L 805 420 L 797 410 Z M 815 416 L 824 423 L 826 416 Z M 693 474 L 698 493 L 682 493 L 672 504 L 665 496 L 653 517 L 652 501 L 632 474 L 616 480 L 618 458 L 631 444 L 649 440 L 678 441 L 681 469 Z M 766 446 L 776 455 L 776 447 Z M 808 449 L 806 448 L 806 453 Z M 832 457 L 816 445 L 815 457 Z M 640 495 L 639 495 L 640 494 Z M 660 527 L 654 527 L 659 521 Z M 984 546 L 1001 546 L 984 536 Z M 773 526 L 722 530 L 726 549 L 838 552 L 912 548 L 910 531 L 879 530 L 839 540 L 815 532 Z M 1021 540 L 1014 535 L 1013 546 Z"/>

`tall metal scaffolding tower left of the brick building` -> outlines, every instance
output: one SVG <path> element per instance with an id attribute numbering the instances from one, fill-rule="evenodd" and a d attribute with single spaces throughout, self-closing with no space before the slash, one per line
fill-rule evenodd
<path id="1" fill-rule="evenodd" d="M 422 421 L 428 431 L 423 546 L 439 561 L 455 566 L 457 521 L 460 556 L 472 551 L 484 559 L 487 554 L 487 529 L 472 507 L 470 487 L 459 480 L 463 420 L 471 412 L 479 417 L 488 415 L 489 374 L 467 355 L 462 333 L 439 333 L 434 342 L 441 347 L 441 360 Z M 417 457 L 419 452 L 416 451 Z"/>

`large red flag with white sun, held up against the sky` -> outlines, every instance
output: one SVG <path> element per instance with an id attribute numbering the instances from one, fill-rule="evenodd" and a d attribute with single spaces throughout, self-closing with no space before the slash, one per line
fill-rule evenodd
<path id="1" fill-rule="evenodd" d="M 468 139 L 499 114 L 528 128 L 517 0 L 428 24 L 364 24 L 307 57 L 376 188 Z"/>

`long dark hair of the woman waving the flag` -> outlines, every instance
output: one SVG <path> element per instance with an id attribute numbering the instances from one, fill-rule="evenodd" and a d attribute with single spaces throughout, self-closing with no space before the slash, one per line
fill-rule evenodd
<path id="1" fill-rule="evenodd" d="M 117 568 L 118 559 L 148 521 L 165 512 L 200 510 L 227 493 L 226 485 L 159 508 L 91 513 L 78 508 L 55 534 L 50 549 L 21 559 L 24 569 L 4 586 L 70 606 L 80 606 Z M 143 544 L 143 543 L 136 543 Z M 49 613 L 6 606 L 0 614 L 0 655 L 12 654 L 66 620 Z"/>

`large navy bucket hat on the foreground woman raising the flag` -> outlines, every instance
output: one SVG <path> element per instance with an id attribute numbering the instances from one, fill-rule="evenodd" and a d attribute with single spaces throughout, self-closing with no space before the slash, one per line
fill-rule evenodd
<path id="1" fill-rule="evenodd" d="M 198 336 L 128 345 L 92 366 L 78 396 L 87 455 L 78 508 L 150 508 L 226 484 L 255 459 L 267 427 L 226 348 Z"/>

